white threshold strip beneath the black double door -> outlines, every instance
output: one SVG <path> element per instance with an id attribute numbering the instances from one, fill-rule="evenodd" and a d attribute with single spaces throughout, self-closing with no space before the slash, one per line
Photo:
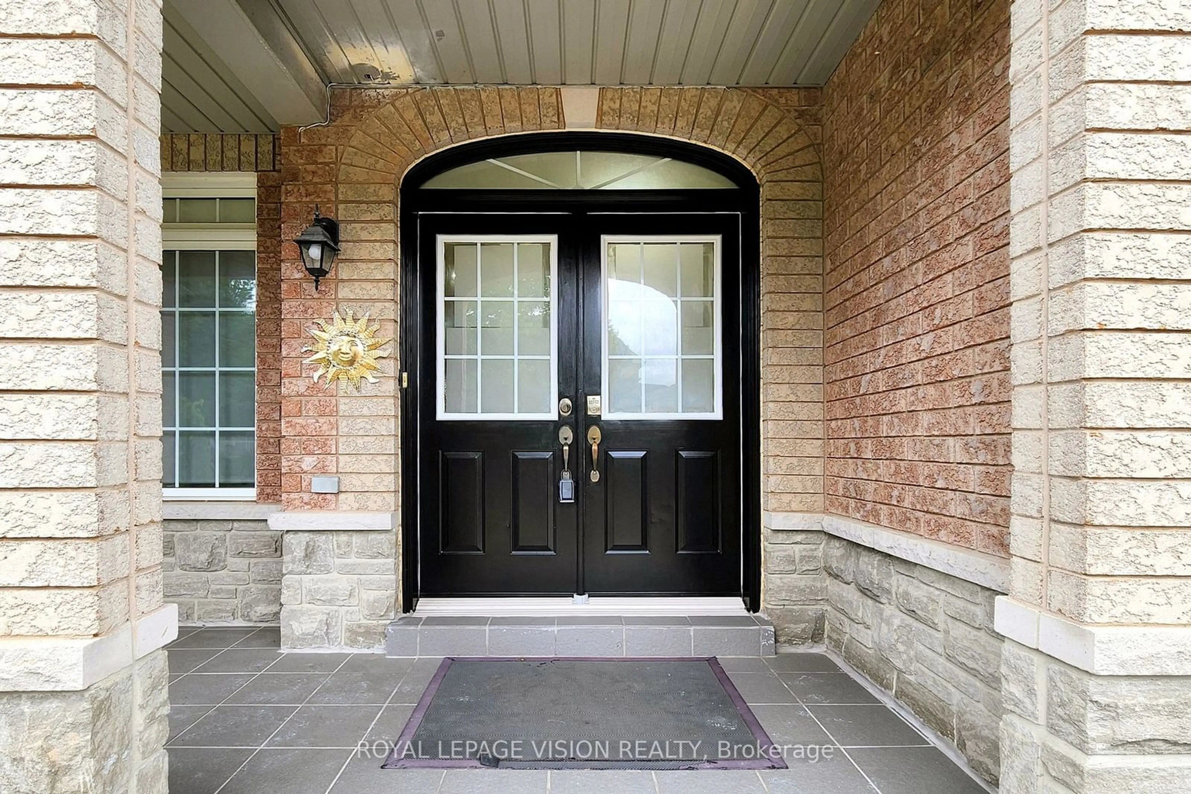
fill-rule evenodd
<path id="1" fill-rule="evenodd" d="M 721 615 L 749 614 L 738 596 L 612 596 L 593 595 L 576 604 L 569 595 L 550 598 L 422 598 L 418 615 L 573 617 L 573 615 Z"/>

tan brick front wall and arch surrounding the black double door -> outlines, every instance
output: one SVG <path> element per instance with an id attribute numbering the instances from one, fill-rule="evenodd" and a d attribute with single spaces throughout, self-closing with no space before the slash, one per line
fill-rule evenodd
<path id="1" fill-rule="evenodd" d="M 283 131 L 282 239 L 301 231 L 316 204 L 324 211 L 335 207 L 343 232 L 336 270 L 317 293 L 297 248 L 287 243 L 283 251 L 285 509 L 399 509 L 393 361 L 386 362 L 380 382 L 366 386 L 360 395 L 342 386 L 338 395 L 326 393 L 311 382 L 308 367 L 301 363 L 308 355 L 301 352 L 306 329 L 338 307 L 372 312 L 386 336 L 395 336 L 397 200 L 406 170 L 423 157 L 468 140 L 566 129 L 563 90 L 337 92 L 331 124 Z M 761 506 L 773 512 L 819 512 L 823 502 L 818 112 L 813 89 L 615 87 L 600 89 L 594 123 L 596 129 L 717 149 L 746 164 L 760 182 Z M 310 493 L 314 474 L 337 474 L 339 493 Z M 787 554 L 767 551 L 763 568 L 766 577 L 793 573 Z"/>

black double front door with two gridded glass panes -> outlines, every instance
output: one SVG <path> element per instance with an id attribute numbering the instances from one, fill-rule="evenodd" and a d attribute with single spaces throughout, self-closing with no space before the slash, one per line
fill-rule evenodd
<path id="1" fill-rule="evenodd" d="M 422 595 L 741 593 L 738 224 L 419 217 Z"/>

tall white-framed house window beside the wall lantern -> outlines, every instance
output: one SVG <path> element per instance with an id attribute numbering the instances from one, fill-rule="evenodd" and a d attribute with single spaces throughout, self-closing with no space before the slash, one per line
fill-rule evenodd
<path id="1" fill-rule="evenodd" d="M 166 499 L 256 498 L 256 174 L 162 177 Z"/>

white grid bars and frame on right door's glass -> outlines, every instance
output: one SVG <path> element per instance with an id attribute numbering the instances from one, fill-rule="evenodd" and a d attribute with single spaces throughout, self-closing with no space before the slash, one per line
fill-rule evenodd
<path id="1" fill-rule="evenodd" d="M 671 243 L 675 244 L 675 256 L 678 257 L 678 263 L 675 267 L 675 283 L 676 288 L 673 298 L 668 298 L 668 302 L 674 306 L 675 313 L 675 350 L 676 355 L 629 355 L 629 354 L 610 354 L 609 352 L 609 335 L 611 331 L 611 317 L 610 317 L 610 304 L 611 299 L 609 295 L 609 285 L 612 281 L 609 275 L 609 249 L 613 244 L 630 244 L 634 245 L 638 251 L 638 281 L 642 286 L 646 285 L 644 274 L 644 251 L 646 245 L 650 243 Z M 682 295 L 682 267 L 681 267 L 681 248 L 679 245 L 684 243 L 690 244 L 712 244 L 712 295 L 707 296 L 684 296 Z M 649 419 L 722 419 L 723 418 L 723 357 L 722 357 L 722 251 L 723 251 L 723 238 L 719 235 L 678 235 L 678 236 L 649 236 L 649 235 L 604 235 L 600 238 L 600 302 L 601 302 L 601 323 L 603 327 L 600 330 L 600 349 L 603 354 L 603 365 L 600 368 L 600 393 L 604 395 L 606 401 L 606 408 L 604 411 L 604 419 L 609 420 L 649 420 Z M 626 301 L 625 301 L 626 302 Z M 662 300 L 647 300 L 636 299 L 638 306 L 644 306 L 646 304 L 663 304 L 667 301 Z M 712 352 L 711 354 L 682 354 L 682 304 L 684 302 L 711 302 L 712 310 Z M 640 338 L 644 339 L 644 324 L 646 313 L 638 311 L 638 333 Z M 647 412 L 646 408 L 646 382 L 641 381 L 641 411 L 638 412 L 617 412 L 611 411 L 612 395 L 611 395 L 611 379 L 610 379 L 610 367 L 611 361 L 640 361 L 642 362 L 642 369 L 644 369 L 644 363 L 647 361 L 672 361 L 674 362 L 675 373 L 675 404 L 678 411 L 675 412 Z M 684 361 L 712 361 L 712 406 L 713 409 L 710 412 L 684 412 L 682 411 L 682 362 Z"/>

